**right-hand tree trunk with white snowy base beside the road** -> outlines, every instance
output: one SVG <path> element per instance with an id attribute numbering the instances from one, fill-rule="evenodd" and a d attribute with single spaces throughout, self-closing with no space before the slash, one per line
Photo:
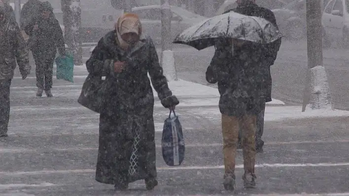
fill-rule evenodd
<path id="1" fill-rule="evenodd" d="M 321 105 L 320 96 L 325 99 L 329 97 L 327 76 L 322 63 L 321 15 L 321 1 L 307 0 L 308 70 L 302 112 L 305 112 L 310 102 L 313 102 L 313 106 Z"/>

